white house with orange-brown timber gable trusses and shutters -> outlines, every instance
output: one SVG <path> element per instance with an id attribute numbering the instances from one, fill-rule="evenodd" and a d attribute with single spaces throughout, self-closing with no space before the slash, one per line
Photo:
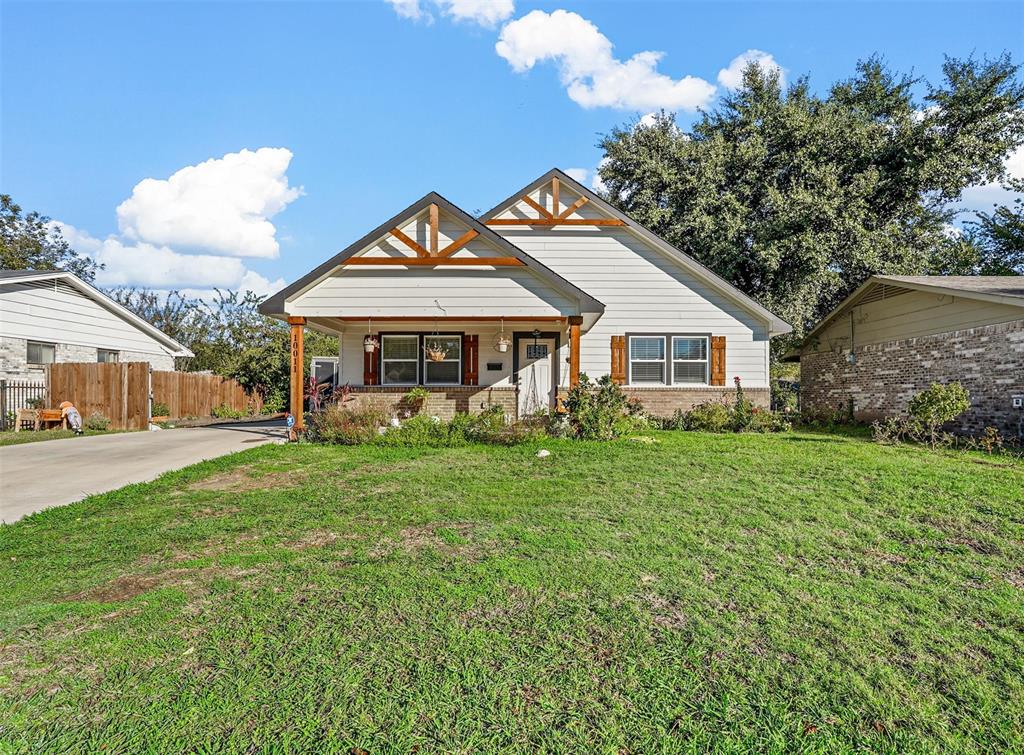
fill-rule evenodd
<path id="1" fill-rule="evenodd" d="M 292 324 L 293 413 L 302 329 L 339 337 L 318 378 L 429 411 L 553 408 L 610 374 L 656 414 L 731 393 L 769 401 L 769 339 L 787 324 L 559 170 L 474 218 L 429 194 L 270 297 Z"/>

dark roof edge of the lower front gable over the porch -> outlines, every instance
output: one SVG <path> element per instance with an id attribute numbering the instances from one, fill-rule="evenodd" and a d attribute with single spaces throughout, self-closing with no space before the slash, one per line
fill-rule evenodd
<path id="1" fill-rule="evenodd" d="M 338 252 L 336 255 L 331 257 L 331 259 L 316 266 L 295 283 L 286 286 L 284 289 L 260 304 L 259 310 L 268 317 L 275 317 L 279 319 L 282 318 L 285 314 L 285 302 L 288 301 L 291 296 L 301 293 L 306 288 L 327 278 L 346 259 L 354 256 L 374 242 L 387 236 L 388 232 L 395 227 L 395 225 L 399 224 L 403 220 L 408 220 L 409 218 L 418 215 L 432 204 L 436 204 L 438 208 L 458 220 L 461 220 L 469 228 L 476 230 L 480 235 L 479 238 L 497 244 L 498 247 L 508 256 L 516 257 L 522 261 L 526 267 L 541 278 L 547 280 L 548 283 L 552 284 L 555 288 L 569 293 L 574 298 L 579 299 L 580 306 L 584 312 L 600 313 L 604 311 L 604 304 L 588 294 L 586 291 L 572 285 L 550 267 L 547 267 L 538 260 L 534 259 L 534 257 L 526 254 L 526 252 L 522 251 L 512 242 L 508 241 L 499 234 L 496 234 L 492 228 L 488 228 L 468 212 L 452 204 L 436 192 L 431 192 L 422 199 L 417 200 L 401 212 L 382 222 L 354 244 L 351 244 L 342 251 Z M 486 258 L 481 258 L 480 264 L 486 265 Z"/>

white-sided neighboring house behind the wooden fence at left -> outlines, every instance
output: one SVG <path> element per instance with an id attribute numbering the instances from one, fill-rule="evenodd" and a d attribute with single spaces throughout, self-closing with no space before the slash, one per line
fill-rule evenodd
<path id="1" fill-rule="evenodd" d="M 148 362 L 173 370 L 193 353 L 62 270 L 0 270 L 0 379 L 42 380 L 61 362 Z"/>

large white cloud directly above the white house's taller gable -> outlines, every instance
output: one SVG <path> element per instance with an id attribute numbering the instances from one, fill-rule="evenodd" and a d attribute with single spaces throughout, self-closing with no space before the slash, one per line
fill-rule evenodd
<path id="1" fill-rule="evenodd" d="M 662 52 L 617 59 L 594 24 L 567 10 L 532 10 L 507 24 L 495 49 L 519 73 L 547 60 L 557 64 L 569 98 L 584 108 L 692 111 L 715 95 L 715 86 L 703 79 L 659 73 Z"/>

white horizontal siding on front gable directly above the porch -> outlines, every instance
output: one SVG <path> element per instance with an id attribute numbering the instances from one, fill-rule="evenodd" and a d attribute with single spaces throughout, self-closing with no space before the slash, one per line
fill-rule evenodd
<path id="1" fill-rule="evenodd" d="M 435 300 L 444 308 L 438 309 Z M 578 304 L 522 267 L 355 268 L 313 286 L 289 304 L 305 317 L 560 317 Z"/>

